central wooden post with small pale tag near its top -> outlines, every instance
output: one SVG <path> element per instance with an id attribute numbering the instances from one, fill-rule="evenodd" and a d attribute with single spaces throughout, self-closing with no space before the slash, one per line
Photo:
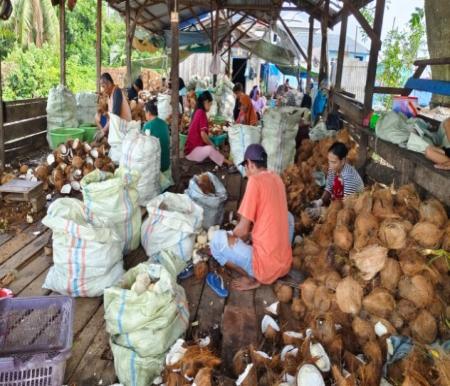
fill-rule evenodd
<path id="1" fill-rule="evenodd" d="M 175 181 L 175 186 L 180 182 L 180 146 L 179 146 L 179 64 L 180 64 L 180 50 L 179 50 L 179 14 L 178 1 L 170 2 L 170 29 L 172 32 L 172 63 L 171 63 L 171 83 L 172 83 L 172 121 L 170 124 L 172 137 L 172 176 Z"/>

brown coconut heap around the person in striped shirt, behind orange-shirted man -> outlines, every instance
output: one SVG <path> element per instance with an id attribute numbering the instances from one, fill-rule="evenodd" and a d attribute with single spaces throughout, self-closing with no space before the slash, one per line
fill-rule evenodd
<path id="1" fill-rule="evenodd" d="M 348 160 L 354 163 L 357 158 L 357 144 L 347 129 L 337 132 L 335 137 L 328 137 L 314 142 L 303 140 L 297 149 L 297 163 L 290 165 L 282 174 L 286 185 L 288 206 L 296 217 L 300 215 L 305 205 L 321 195 L 321 188 L 315 182 L 315 173 L 322 172 L 323 177 L 328 172 L 328 149 L 335 142 L 344 143 L 348 149 Z M 309 226 L 309 225 L 308 225 Z M 305 227 L 300 222 L 296 224 L 297 232 Z"/>

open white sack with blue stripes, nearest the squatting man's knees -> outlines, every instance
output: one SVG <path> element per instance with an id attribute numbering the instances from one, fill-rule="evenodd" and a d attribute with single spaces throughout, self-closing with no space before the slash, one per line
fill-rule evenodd
<path id="1" fill-rule="evenodd" d="M 203 208 L 186 194 L 166 192 L 148 203 L 147 212 L 141 229 L 147 256 L 171 252 L 180 260 L 181 272 L 192 258 L 195 235 L 202 229 Z"/>

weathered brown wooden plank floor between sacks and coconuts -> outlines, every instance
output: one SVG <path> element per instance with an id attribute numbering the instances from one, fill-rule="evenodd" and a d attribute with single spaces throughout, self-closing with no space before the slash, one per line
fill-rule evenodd
<path id="1" fill-rule="evenodd" d="M 223 178 L 230 192 L 230 211 L 236 211 L 243 189 L 242 178 L 233 175 Z M 144 214 L 144 213 L 143 213 Z M 0 237 L 0 273 L 15 272 L 16 278 L 8 285 L 16 296 L 47 296 L 51 291 L 43 289 L 52 257 L 44 247 L 51 238 L 51 231 L 37 221 L 23 225 L 15 234 Z M 129 269 L 146 261 L 142 247 L 124 258 L 124 268 Z M 228 279 L 229 282 L 229 279 Z M 242 295 L 230 291 L 228 299 L 220 299 L 203 282 L 194 277 L 181 283 L 189 304 L 191 326 L 187 339 L 210 336 L 216 353 L 223 357 L 223 370 L 230 374 L 229 362 L 235 347 L 256 344 L 259 339 L 261 302 L 266 297 L 270 303 L 270 288 L 250 291 Z M 232 328 L 231 328 L 231 327 Z M 67 361 L 65 384 L 71 386 L 111 385 L 116 382 L 109 337 L 105 330 L 103 299 L 76 298 L 72 356 Z"/>

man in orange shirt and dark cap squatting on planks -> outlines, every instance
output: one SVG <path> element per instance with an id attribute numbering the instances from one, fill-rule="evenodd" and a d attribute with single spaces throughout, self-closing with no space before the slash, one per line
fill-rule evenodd
<path id="1" fill-rule="evenodd" d="M 233 280 L 234 289 L 250 290 L 289 272 L 294 219 L 288 212 L 283 181 L 267 170 L 264 148 L 250 145 L 242 165 L 248 184 L 238 212 L 240 221 L 232 232 L 215 233 L 211 253 L 220 265 L 242 274 Z M 250 234 L 252 245 L 244 241 Z"/>

